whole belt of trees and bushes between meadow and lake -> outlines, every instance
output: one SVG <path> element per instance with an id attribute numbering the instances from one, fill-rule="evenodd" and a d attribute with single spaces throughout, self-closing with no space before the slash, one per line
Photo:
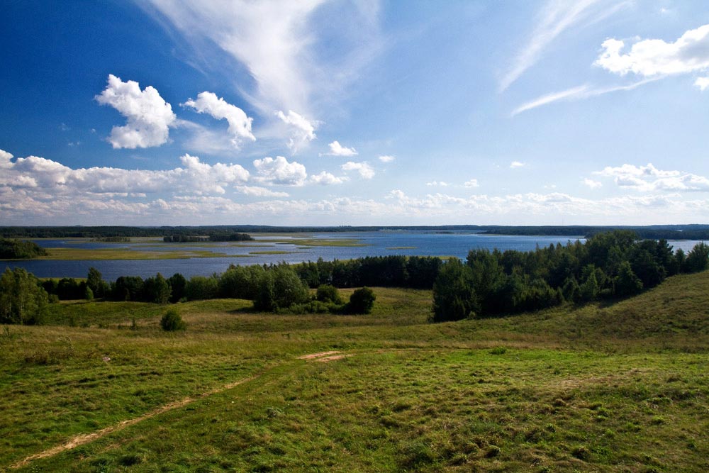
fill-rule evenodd
<path id="1" fill-rule="evenodd" d="M 46 301 L 102 298 L 174 304 L 234 298 L 254 301 L 259 311 L 367 313 L 374 294 L 367 286 L 433 290 L 432 321 L 455 321 L 534 311 L 566 302 L 637 294 L 668 276 L 709 267 L 709 245 L 685 254 L 666 240 L 640 240 L 628 230 L 599 233 L 581 243 L 549 245 L 535 251 L 471 250 L 465 262 L 438 257 L 381 256 L 298 265 L 230 265 L 222 274 L 158 273 L 143 279 L 123 276 L 106 282 L 96 269 L 86 281 L 40 282 L 24 269 L 0 277 L 0 322 L 37 323 Z M 344 303 L 337 288 L 362 287 Z M 308 289 L 317 288 L 311 295 Z M 18 295 L 24 294 L 24 295 Z M 18 299 L 19 298 L 19 299 Z M 359 311 L 359 312 L 357 312 Z"/>

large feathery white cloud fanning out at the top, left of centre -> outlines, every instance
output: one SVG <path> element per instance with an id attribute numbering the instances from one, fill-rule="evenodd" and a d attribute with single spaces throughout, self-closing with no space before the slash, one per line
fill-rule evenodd
<path id="1" fill-rule="evenodd" d="M 341 96 L 337 92 L 381 48 L 378 9 L 367 9 L 369 2 L 329 4 L 327 23 L 313 18 L 325 0 L 145 3 L 158 23 L 174 27 L 191 43 L 195 54 L 190 60 L 235 77 L 235 87 L 264 116 L 276 110 L 313 115 L 314 103 Z M 331 44 L 338 45 L 336 57 L 320 49 Z M 252 84 L 225 55 L 247 70 Z"/>

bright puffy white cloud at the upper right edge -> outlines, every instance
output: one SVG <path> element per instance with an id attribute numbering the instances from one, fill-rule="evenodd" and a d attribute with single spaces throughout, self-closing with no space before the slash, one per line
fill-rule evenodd
<path id="1" fill-rule="evenodd" d="M 630 52 L 621 54 L 625 42 L 610 38 L 603 42 L 596 65 L 615 74 L 630 72 L 643 77 L 686 74 L 709 68 L 709 25 L 686 31 L 674 43 L 641 40 Z"/>

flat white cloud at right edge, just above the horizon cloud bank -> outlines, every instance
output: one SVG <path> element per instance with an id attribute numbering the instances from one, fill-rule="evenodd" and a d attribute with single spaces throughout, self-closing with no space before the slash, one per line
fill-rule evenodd
<path id="1" fill-rule="evenodd" d="M 709 179 L 706 177 L 681 171 L 663 171 L 652 163 L 647 166 L 609 166 L 594 174 L 612 177 L 618 186 L 639 191 L 709 191 Z"/>

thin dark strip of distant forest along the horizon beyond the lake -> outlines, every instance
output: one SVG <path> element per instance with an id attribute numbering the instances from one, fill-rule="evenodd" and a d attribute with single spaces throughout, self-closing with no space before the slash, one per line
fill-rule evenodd
<path id="1" fill-rule="evenodd" d="M 709 240 L 709 225 L 655 226 L 336 226 L 288 227 L 263 225 L 199 226 L 199 227 L 0 227 L 2 238 L 102 238 L 102 237 L 172 237 L 204 236 L 235 233 L 337 233 L 417 230 L 429 232 L 479 232 L 496 235 L 553 235 L 590 238 L 613 230 L 630 230 L 639 238 L 665 240 Z M 230 241 L 230 240 L 212 240 Z"/>

